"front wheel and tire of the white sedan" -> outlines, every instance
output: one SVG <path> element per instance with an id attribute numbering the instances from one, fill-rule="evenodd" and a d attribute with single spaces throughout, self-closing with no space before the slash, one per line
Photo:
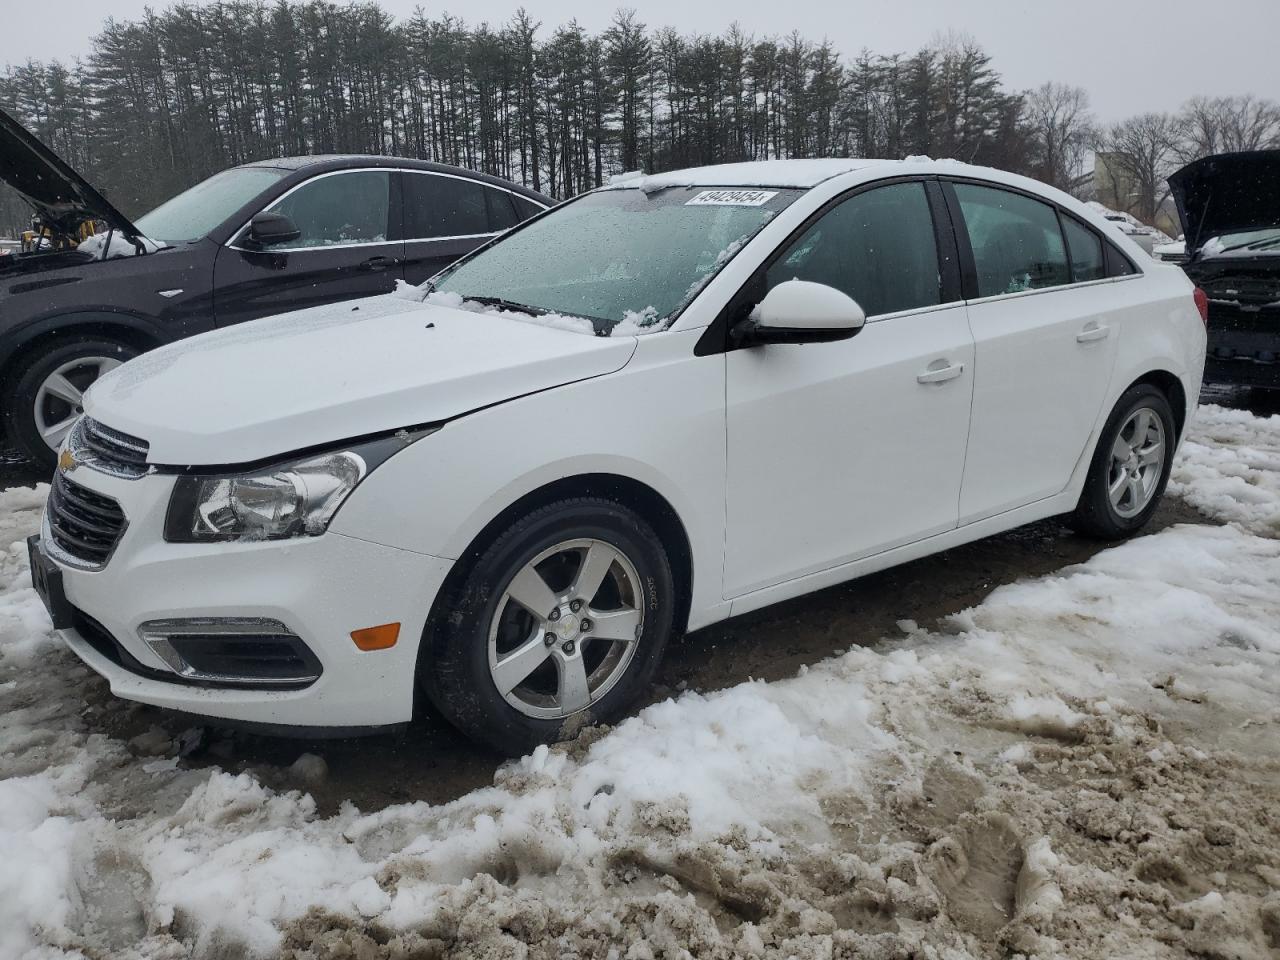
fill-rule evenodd
<path id="1" fill-rule="evenodd" d="M 517 520 L 442 600 L 424 637 L 421 685 L 453 726 L 511 756 L 623 716 L 653 681 L 676 609 L 657 534 L 634 511 L 596 498 L 559 500 Z M 548 603 L 553 609 L 543 612 Z M 517 650 L 522 658 L 508 659 Z"/>

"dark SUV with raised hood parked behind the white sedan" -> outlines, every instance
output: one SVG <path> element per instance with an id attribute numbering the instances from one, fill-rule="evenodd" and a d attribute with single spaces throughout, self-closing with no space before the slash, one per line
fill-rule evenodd
<path id="1" fill-rule="evenodd" d="M 131 221 L 4 111 L 0 182 L 42 228 L 0 257 L 0 413 L 49 466 L 81 394 L 137 353 L 421 283 L 553 202 L 422 160 L 305 156 L 223 170 Z M 82 241 L 90 220 L 105 229 Z"/>

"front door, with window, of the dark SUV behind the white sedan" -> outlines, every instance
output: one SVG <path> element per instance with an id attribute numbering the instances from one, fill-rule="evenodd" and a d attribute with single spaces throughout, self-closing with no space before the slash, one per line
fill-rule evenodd
<path id="1" fill-rule="evenodd" d="M 403 276 L 399 184 L 394 170 L 312 177 L 266 207 L 301 230 L 296 241 L 255 248 L 246 225 L 214 264 L 219 326 L 271 314 L 390 293 Z"/>

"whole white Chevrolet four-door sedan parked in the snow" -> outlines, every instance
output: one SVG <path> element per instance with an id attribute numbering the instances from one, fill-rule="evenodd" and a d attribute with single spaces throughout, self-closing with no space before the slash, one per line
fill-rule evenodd
<path id="1" fill-rule="evenodd" d="M 1140 530 L 1203 314 L 996 170 L 626 178 L 104 376 L 33 581 L 119 696 L 298 732 L 421 690 L 518 753 L 623 714 L 680 631 L 1043 517 Z"/>

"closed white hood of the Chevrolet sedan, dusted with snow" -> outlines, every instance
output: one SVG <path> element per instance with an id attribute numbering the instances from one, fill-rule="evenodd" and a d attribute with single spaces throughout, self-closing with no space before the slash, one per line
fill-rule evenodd
<path id="1" fill-rule="evenodd" d="M 84 411 L 147 440 L 151 463 L 251 463 L 602 376 L 635 346 L 374 297 L 151 351 L 95 383 Z"/>

